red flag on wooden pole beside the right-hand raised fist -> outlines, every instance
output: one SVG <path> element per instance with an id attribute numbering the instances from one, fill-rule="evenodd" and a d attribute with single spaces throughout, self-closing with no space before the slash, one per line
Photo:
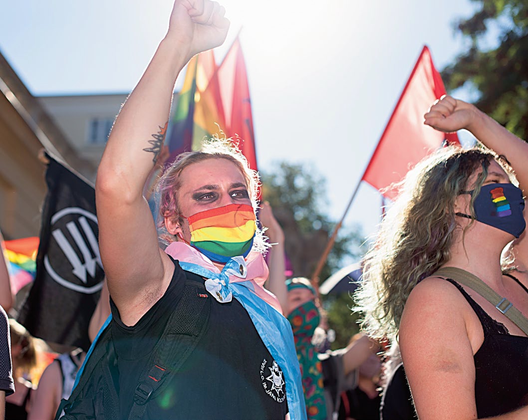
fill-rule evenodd
<path id="1" fill-rule="evenodd" d="M 442 133 L 423 124 L 423 114 L 445 93 L 440 73 L 424 46 L 362 180 L 377 189 L 388 187 L 444 140 L 459 144 L 456 133 Z M 383 195 L 394 198 L 396 192 L 390 189 Z"/>

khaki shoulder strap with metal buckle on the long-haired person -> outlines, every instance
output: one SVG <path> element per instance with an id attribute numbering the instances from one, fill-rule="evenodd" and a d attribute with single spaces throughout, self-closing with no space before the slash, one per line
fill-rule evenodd
<path id="1" fill-rule="evenodd" d="M 480 280 L 476 275 L 456 267 L 444 267 L 438 269 L 431 276 L 447 277 L 474 290 L 505 314 L 506 317 L 528 336 L 528 319 L 510 301 L 495 292 L 495 290 Z"/>

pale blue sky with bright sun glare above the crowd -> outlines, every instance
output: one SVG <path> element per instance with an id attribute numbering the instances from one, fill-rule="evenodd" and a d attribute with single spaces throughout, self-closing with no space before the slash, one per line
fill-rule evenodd
<path id="1" fill-rule="evenodd" d="M 454 35 L 453 23 L 475 8 L 469 0 L 221 4 L 232 24 L 218 58 L 242 27 L 260 168 L 272 171 L 279 160 L 312 165 L 327 179 L 322 211 L 334 219 L 359 183 L 423 44 L 444 68 L 467 42 Z M 171 8 L 171 0 L 8 2 L 0 51 L 36 95 L 129 92 Z M 373 234 L 380 204 L 362 185 L 345 226 Z"/>

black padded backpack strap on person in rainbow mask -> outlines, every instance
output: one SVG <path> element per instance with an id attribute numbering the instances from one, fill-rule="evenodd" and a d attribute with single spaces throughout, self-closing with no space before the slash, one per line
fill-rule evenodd
<path id="1" fill-rule="evenodd" d="M 169 376 L 180 371 L 205 332 L 210 308 L 203 283 L 187 280 L 153 356 L 139 377 L 128 420 L 142 419 L 150 397 L 167 383 Z"/>

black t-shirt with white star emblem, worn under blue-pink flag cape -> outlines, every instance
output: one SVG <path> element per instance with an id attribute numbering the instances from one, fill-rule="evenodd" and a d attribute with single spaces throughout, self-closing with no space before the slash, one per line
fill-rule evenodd
<path id="1" fill-rule="evenodd" d="M 130 412 L 139 375 L 182 295 L 186 276 L 203 282 L 176 265 L 163 297 L 133 327 L 120 321 L 111 302 L 122 418 Z M 235 299 L 220 303 L 206 296 L 211 312 L 204 336 L 180 372 L 151 397 L 144 419 L 284 419 L 284 376 L 249 314 Z"/>

